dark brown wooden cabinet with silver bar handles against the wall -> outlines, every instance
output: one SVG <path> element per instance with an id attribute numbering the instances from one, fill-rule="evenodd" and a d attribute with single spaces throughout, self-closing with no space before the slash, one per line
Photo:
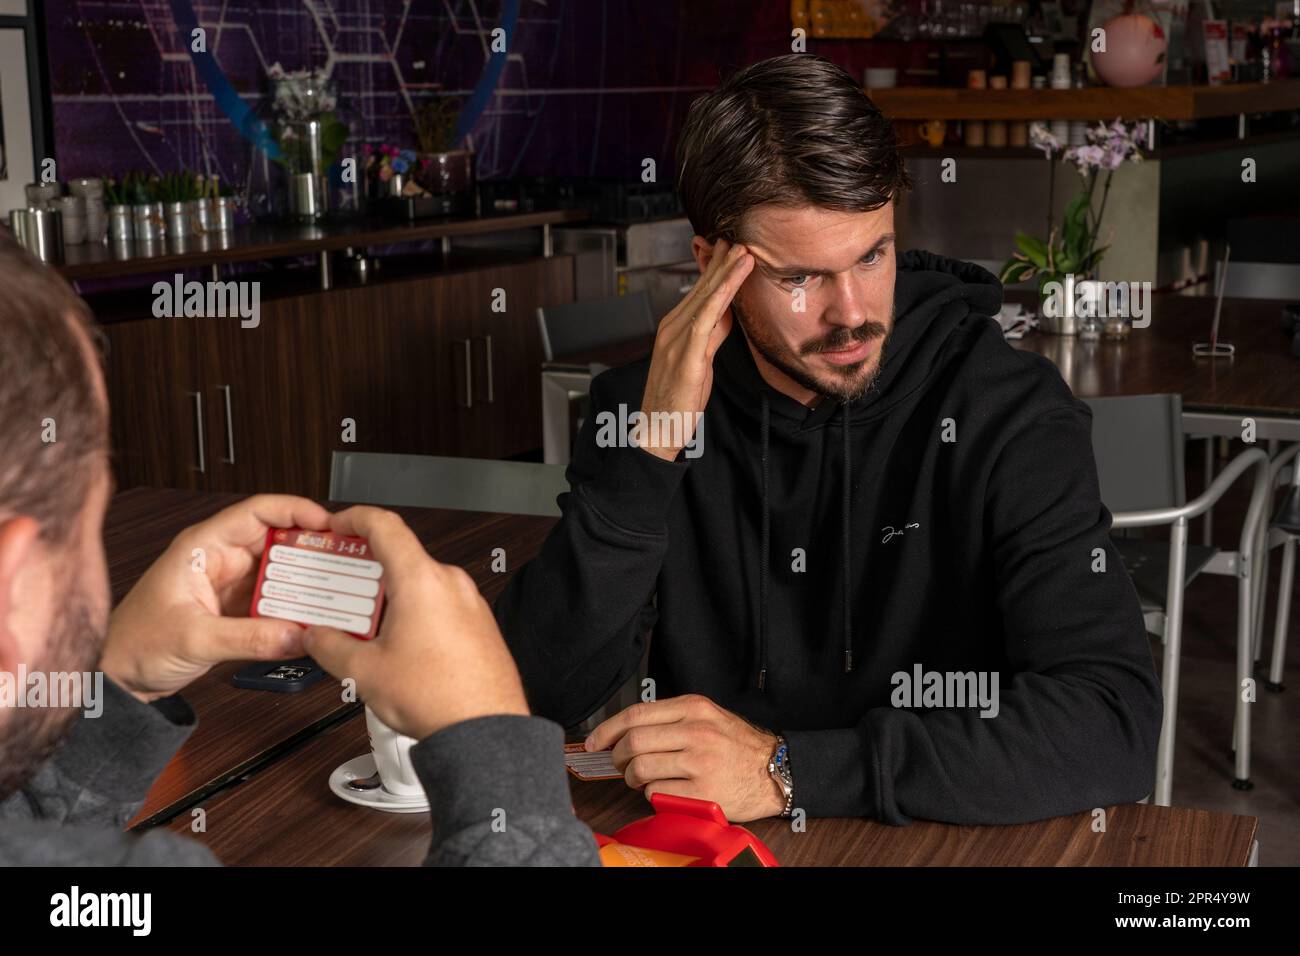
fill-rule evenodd
<path id="1" fill-rule="evenodd" d="M 110 323 L 118 483 L 324 497 L 334 450 L 537 449 L 537 308 L 572 295 L 555 256 L 265 300 L 255 328 Z"/>

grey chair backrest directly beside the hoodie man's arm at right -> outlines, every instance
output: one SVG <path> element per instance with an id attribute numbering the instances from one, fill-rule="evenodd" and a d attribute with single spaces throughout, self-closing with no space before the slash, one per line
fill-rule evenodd
<path id="1" fill-rule="evenodd" d="M 1112 514 L 1187 503 L 1182 395 L 1086 398 L 1101 501 Z"/>

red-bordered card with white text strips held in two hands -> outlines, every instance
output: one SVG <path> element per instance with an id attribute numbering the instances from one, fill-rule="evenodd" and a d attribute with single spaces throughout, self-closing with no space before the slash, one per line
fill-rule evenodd
<path id="1" fill-rule="evenodd" d="M 384 567 L 364 537 L 270 528 L 252 591 L 254 618 L 322 624 L 370 640 L 384 610 Z"/>

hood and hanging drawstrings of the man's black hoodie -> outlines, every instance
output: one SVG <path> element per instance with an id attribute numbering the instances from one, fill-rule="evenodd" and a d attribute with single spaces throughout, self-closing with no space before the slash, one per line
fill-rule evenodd
<path id="1" fill-rule="evenodd" d="M 815 408 L 785 395 L 763 381 L 740 323 L 718 350 L 714 388 L 733 399 L 734 407 L 758 420 L 762 523 L 759 551 L 758 688 L 767 683 L 768 591 L 771 561 L 771 429 L 776 418 L 783 429 L 802 432 L 837 419 L 842 434 L 842 480 L 840 502 L 840 574 L 844 631 L 844 670 L 853 670 L 853 609 L 849 574 L 852 567 L 850 463 L 854 424 L 868 421 L 907 401 L 923 389 L 941 367 L 950 347 L 959 347 L 954 333 L 970 321 L 985 323 L 1002 304 L 1002 285 L 987 269 L 920 250 L 898 258 L 894 280 L 894 325 L 884 352 L 884 364 L 871 390 L 857 402 L 819 402 Z"/>

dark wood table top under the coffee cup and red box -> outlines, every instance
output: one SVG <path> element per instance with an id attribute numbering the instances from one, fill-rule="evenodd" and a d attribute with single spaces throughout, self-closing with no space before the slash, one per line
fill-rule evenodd
<path id="1" fill-rule="evenodd" d="M 365 722 L 350 717 L 204 801 L 205 831 L 192 831 L 190 814 L 168 827 L 228 865 L 419 865 L 429 852 L 428 813 L 373 810 L 329 790 L 330 773 L 368 750 Z M 598 832 L 651 813 L 621 780 L 571 778 L 569 786 L 578 818 Z M 1093 831 L 1091 813 L 1017 826 L 809 819 L 805 832 L 793 832 L 784 819 L 748 825 L 783 866 L 1244 866 L 1257 826 L 1254 817 L 1144 804 L 1108 808 L 1105 832 Z"/>

